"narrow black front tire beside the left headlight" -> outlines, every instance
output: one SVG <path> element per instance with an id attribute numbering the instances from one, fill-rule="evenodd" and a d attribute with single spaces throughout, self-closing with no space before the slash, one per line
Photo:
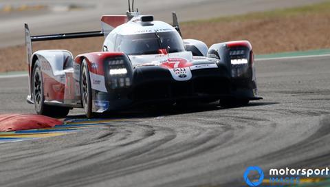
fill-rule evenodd
<path id="1" fill-rule="evenodd" d="M 92 118 L 93 112 L 91 105 L 91 80 L 89 77 L 88 66 L 85 60 L 83 60 L 83 63 L 80 68 L 80 93 L 85 115 L 87 118 Z"/>

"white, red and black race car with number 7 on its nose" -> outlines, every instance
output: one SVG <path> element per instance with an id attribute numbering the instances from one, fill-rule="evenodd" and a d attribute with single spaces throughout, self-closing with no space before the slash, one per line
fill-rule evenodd
<path id="1" fill-rule="evenodd" d="M 248 41 L 217 43 L 181 39 L 173 25 L 127 11 L 103 16 L 101 31 L 31 36 L 25 23 L 30 94 L 36 113 L 64 117 L 70 109 L 93 113 L 135 104 L 214 102 L 248 104 L 261 99 Z M 102 52 L 74 58 L 67 50 L 40 50 L 32 42 L 104 36 Z"/>

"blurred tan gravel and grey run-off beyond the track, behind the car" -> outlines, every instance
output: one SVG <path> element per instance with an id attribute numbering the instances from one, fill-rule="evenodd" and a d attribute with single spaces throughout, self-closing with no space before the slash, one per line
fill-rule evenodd
<path id="1" fill-rule="evenodd" d="M 255 54 L 330 48 L 330 2 L 322 0 L 135 0 L 142 14 L 171 23 L 177 12 L 184 39 L 207 45 L 249 40 Z M 125 14 L 127 1 L 0 1 L 0 72 L 24 71 L 23 23 L 32 35 L 100 30 L 103 14 Z M 99 51 L 102 38 L 35 43 L 34 50 Z"/>

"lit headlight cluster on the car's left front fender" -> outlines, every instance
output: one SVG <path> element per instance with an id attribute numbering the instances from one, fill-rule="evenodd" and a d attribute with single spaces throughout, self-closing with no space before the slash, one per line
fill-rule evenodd
<path id="1" fill-rule="evenodd" d="M 131 86 L 131 78 L 124 59 L 109 61 L 109 83 L 112 89 Z"/>

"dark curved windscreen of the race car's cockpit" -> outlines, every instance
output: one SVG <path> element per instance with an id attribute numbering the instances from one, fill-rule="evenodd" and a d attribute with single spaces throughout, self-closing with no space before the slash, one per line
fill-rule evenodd
<path id="1" fill-rule="evenodd" d="M 146 34 L 118 35 L 115 50 L 129 55 L 158 54 L 158 50 L 184 52 L 184 42 L 177 32 L 155 32 Z"/>

